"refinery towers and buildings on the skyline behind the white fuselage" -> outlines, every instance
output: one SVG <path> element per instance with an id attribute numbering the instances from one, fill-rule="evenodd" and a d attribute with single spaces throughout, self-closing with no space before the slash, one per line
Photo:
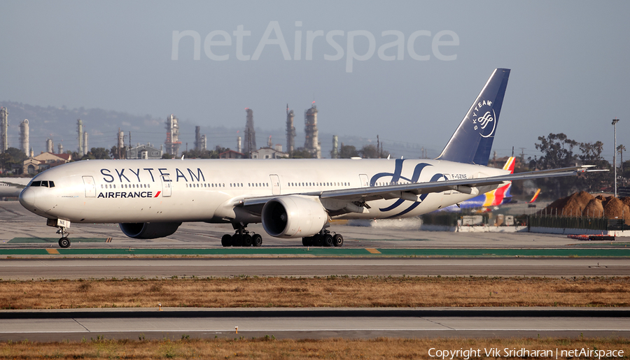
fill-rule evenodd
<path id="1" fill-rule="evenodd" d="M 9 131 L 10 131 L 10 121 L 8 118 L 9 110 L 6 107 L 0 107 L 0 152 L 5 152 L 9 147 L 11 147 L 9 143 Z M 223 154 L 219 157 L 221 158 L 237 158 L 237 159 L 277 159 L 277 158 L 288 158 L 293 157 L 293 153 L 296 151 L 300 152 L 300 157 L 309 156 L 312 158 L 319 159 L 322 157 L 321 154 L 321 141 L 319 140 L 318 135 L 318 109 L 315 103 L 311 103 L 310 108 L 304 110 L 304 147 L 296 147 L 295 142 L 297 138 L 297 131 L 295 128 L 295 111 L 289 108 L 289 105 L 286 105 L 286 129 L 284 131 L 286 135 L 286 148 L 283 149 L 283 144 L 281 143 L 273 143 L 272 136 L 268 136 L 267 141 L 265 141 L 265 145 L 262 147 L 258 147 L 256 143 L 256 131 L 254 126 L 254 116 L 252 108 L 245 108 L 245 127 L 244 131 L 238 131 L 240 134 L 237 134 L 235 150 L 228 150 L 231 152 L 230 154 Z M 36 129 L 38 126 L 41 126 L 41 120 L 37 122 L 33 122 L 31 120 L 21 120 L 18 123 L 19 129 L 19 143 L 14 144 L 13 147 L 17 148 L 25 154 L 27 158 L 34 158 L 35 151 L 33 143 L 37 143 L 38 141 L 31 141 L 29 138 L 31 133 L 33 132 L 31 127 Z M 45 122 L 44 122 L 45 123 Z M 125 122 L 123 122 L 125 124 Z M 176 115 L 171 114 L 167 116 L 165 124 L 166 134 L 164 145 L 160 145 L 155 147 L 151 145 L 151 143 L 132 143 L 132 133 L 129 131 L 128 133 L 118 128 L 116 131 L 116 136 L 113 137 L 113 141 L 115 141 L 115 146 L 110 147 L 105 146 L 102 147 L 99 142 L 102 143 L 101 140 L 97 140 L 99 143 L 98 146 L 104 148 L 108 151 L 108 154 L 111 155 L 114 159 L 159 159 L 164 155 L 168 154 L 169 157 L 179 157 L 183 151 L 193 150 L 195 152 L 206 152 L 209 150 L 209 146 L 211 149 L 221 150 L 225 152 L 225 147 L 221 147 L 216 144 L 208 144 L 209 138 L 206 134 L 202 134 L 202 127 L 195 126 L 195 137 L 194 141 L 191 141 L 190 146 L 189 143 L 183 142 L 181 140 L 181 129 L 180 122 Z M 127 125 L 127 124 L 125 124 Z M 133 127 L 132 127 L 133 128 Z M 76 120 L 76 132 L 73 131 L 74 135 L 71 136 L 74 143 L 76 141 L 76 145 L 70 145 L 72 149 L 72 153 L 75 154 L 75 159 L 78 156 L 83 157 L 90 152 L 92 147 L 90 147 L 90 136 L 86 131 L 86 122 L 80 118 Z M 15 129 L 13 129 L 15 131 Z M 98 131 L 97 131 L 98 132 Z M 142 135 L 140 135 L 142 136 Z M 49 134 L 45 138 L 45 144 L 42 144 L 43 147 L 37 146 L 37 152 L 41 153 L 49 153 L 49 154 L 64 154 L 64 150 L 67 151 L 67 147 L 64 148 L 64 140 L 62 139 L 55 146 L 55 142 L 53 140 L 53 134 Z M 67 141 L 66 141 L 66 145 Z M 76 146 L 76 147 L 75 147 Z M 184 150 L 185 146 L 185 150 Z M 216 146 L 216 147 L 215 147 Z M 76 150 L 73 150 L 76 149 Z M 76 152 L 75 152 L 76 151 Z M 306 155 L 305 155 L 306 154 Z M 332 140 L 332 151 L 330 152 L 330 157 L 333 159 L 339 157 L 339 149 L 337 145 L 337 136 L 333 136 Z M 42 168 L 43 169 L 43 168 Z M 39 169 L 41 170 L 41 169 Z M 36 170 L 37 171 L 37 170 Z"/>

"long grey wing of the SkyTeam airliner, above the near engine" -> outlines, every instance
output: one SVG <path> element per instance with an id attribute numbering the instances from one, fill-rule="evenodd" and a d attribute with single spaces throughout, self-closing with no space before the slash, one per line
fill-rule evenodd
<path id="1" fill-rule="evenodd" d="M 573 166 L 569 168 L 556 168 L 552 170 L 530 171 L 507 175 L 490 176 L 487 178 L 443 180 L 437 182 L 416 182 L 405 185 L 387 185 L 379 187 L 356 187 L 353 189 L 328 190 L 324 192 L 303 192 L 296 195 L 318 196 L 321 199 L 337 199 L 346 201 L 372 201 L 376 199 L 404 199 L 420 201 L 419 195 L 432 192 L 444 192 L 456 190 L 465 194 L 478 193 L 477 187 L 486 185 L 498 185 L 507 181 L 528 180 L 537 178 L 556 178 L 560 176 L 578 175 L 580 173 L 601 171 L 589 170 L 594 165 Z M 262 209 L 262 206 L 271 199 L 286 195 L 244 197 L 236 199 L 234 206 Z M 255 213 L 258 211 L 254 210 Z"/>

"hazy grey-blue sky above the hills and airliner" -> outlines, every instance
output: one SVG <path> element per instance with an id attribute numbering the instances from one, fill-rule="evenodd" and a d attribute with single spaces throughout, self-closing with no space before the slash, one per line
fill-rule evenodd
<path id="1" fill-rule="evenodd" d="M 301 131 L 315 100 L 339 141 L 440 151 L 504 67 L 500 156 L 563 132 L 612 160 L 612 118 L 618 144 L 630 135 L 629 14 L 629 1 L 3 1 L 0 101 L 202 127 L 244 127 L 249 107 L 262 129 L 283 129 L 288 103 Z"/>

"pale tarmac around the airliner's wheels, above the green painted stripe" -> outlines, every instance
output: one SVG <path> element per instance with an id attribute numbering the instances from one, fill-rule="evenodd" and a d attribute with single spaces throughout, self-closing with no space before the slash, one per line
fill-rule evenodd
<path id="1" fill-rule="evenodd" d="M 518 205 L 518 204 L 517 204 Z M 524 210 L 527 211 L 527 210 Z M 30 213 L 17 201 L 0 202 L 0 250 L 4 248 L 59 250 L 56 229 L 45 225 L 45 219 Z M 301 239 L 272 238 L 262 224 L 250 224 L 250 231 L 262 234 L 263 249 L 302 247 Z M 619 248 L 629 240 L 619 238 L 613 243 L 578 241 L 563 235 L 545 233 L 422 231 L 419 219 L 335 222 L 330 231 L 344 236 L 342 249 L 355 248 L 409 248 L 409 249 L 565 249 Z M 172 236 L 153 240 L 127 238 L 118 224 L 72 224 L 72 249 L 153 249 L 153 248 L 214 248 L 221 249 L 221 236 L 234 233 L 229 224 L 188 222 L 182 224 Z M 110 239 L 106 242 L 106 239 Z M 628 250 L 627 248 L 625 248 Z M 341 249 L 336 249 L 341 250 Z"/>

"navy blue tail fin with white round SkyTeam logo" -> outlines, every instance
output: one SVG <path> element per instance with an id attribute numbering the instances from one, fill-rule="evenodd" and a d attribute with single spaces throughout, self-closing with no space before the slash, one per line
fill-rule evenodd
<path id="1" fill-rule="evenodd" d="M 488 165 L 510 69 L 495 69 L 437 159 Z"/>

